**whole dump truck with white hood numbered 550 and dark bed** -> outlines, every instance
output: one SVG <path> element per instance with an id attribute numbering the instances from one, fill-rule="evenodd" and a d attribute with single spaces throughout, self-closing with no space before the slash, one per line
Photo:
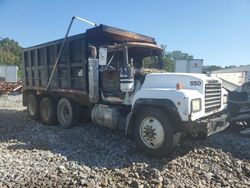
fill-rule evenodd
<path id="1" fill-rule="evenodd" d="M 162 157 L 183 134 L 227 126 L 227 92 L 203 74 L 166 73 L 152 37 L 100 24 L 23 49 L 23 105 L 63 128 L 79 121 L 123 129 L 138 149 Z M 183 134 L 182 134 L 183 133 Z"/>

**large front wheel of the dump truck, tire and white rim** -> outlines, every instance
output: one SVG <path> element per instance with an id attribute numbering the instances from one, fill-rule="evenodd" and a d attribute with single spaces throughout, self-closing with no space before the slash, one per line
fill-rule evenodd
<path id="1" fill-rule="evenodd" d="M 140 150 L 154 157 L 164 157 L 173 149 L 173 127 L 166 114 L 148 107 L 136 117 L 134 139 Z"/>

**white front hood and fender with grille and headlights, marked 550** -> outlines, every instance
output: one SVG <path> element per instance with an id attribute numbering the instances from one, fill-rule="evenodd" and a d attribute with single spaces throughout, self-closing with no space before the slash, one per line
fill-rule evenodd
<path id="1" fill-rule="evenodd" d="M 224 110 L 227 92 L 218 78 L 204 74 L 151 73 L 133 97 L 132 106 L 139 99 L 171 100 L 182 121 L 195 121 Z"/>

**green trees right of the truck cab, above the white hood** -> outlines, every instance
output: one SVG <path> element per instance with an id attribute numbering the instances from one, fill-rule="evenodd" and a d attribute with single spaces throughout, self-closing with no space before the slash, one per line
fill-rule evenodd
<path id="1" fill-rule="evenodd" d="M 188 60 L 194 58 L 193 55 L 190 55 L 188 53 L 183 53 L 179 50 L 167 52 L 166 45 L 161 45 L 161 48 L 163 49 L 162 52 L 163 69 L 168 72 L 174 71 L 175 60 Z"/>

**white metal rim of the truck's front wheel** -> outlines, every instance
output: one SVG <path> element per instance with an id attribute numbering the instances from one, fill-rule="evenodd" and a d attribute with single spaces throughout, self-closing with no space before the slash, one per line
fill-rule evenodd
<path id="1" fill-rule="evenodd" d="M 159 148 L 164 141 L 162 124 L 153 117 L 145 118 L 140 124 L 140 137 L 149 148 Z"/>

